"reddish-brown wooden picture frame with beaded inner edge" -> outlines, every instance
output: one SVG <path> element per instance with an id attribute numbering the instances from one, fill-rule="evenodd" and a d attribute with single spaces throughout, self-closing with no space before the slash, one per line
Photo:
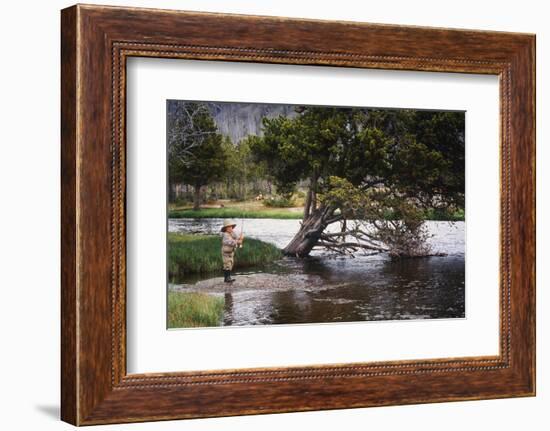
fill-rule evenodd
<path id="1" fill-rule="evenodd" d="M 535 394 L 535 36 L 77 5 L 61 13 L 61 418 L 75 425 Z M 500 353 L 127 374 L 129 56 L 500 77 Z"/>

